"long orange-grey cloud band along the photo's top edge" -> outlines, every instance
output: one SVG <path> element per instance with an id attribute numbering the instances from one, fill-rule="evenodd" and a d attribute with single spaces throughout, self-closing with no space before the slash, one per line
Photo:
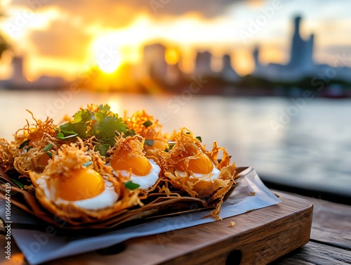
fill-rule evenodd
<path id="1" fill-rule="evenodd" d="M 186 13 L 198 13 L 204 18 L 213 18 L 223 14 L 227 7 L 235 2 L 233 0 L 13 0 L 12 4 L 32 8 L 34 11 L 56 6 L 73 17 L 81 17 L 87 24 L 123 27 L 130 24 L 139 13 L 147 13 L 155 20 Z"/>

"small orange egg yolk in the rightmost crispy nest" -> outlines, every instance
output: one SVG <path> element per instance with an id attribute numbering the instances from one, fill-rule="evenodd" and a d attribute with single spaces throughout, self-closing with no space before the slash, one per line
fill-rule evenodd
<path id="1" fill-rule="evenodd" d="M 192 173 L 209 174 L 213 170 L 213 162 L 207 155 L 201 153 L 197 158 L 189 160 L 188 167 L 185 165 L 185 160 L 181 160 L 178 162 L 176 169 L 181 172 L 190 170 Z"/>

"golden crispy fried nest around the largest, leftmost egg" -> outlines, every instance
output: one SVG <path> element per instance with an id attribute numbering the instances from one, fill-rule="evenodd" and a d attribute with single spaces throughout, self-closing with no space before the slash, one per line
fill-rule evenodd
<path id="1" fill-rule="evenodd" d="M 112 207 L 93 211 L 79 208 L 72 203 L 56 205 L 46 197 L 44 190 L 37 184 L 38 179 L 41 178 L 46 179 L 48 186 L 53 185 L 55 177 L 69 178 L 72 170 L 82 169 L 84 167 L 83 164 L 89 161 L 93 162 L 92 167 L 96 172 L 104 176 L 110 183 L 113 183 L 114 190 L 119 195 L 119 198 Z M 86 147 L 84 147 L 84 143 L 81 140 L 76 144 L 71 143 L 69 146 L 66 144 L 61 146 L 58 150 L 58 155 L 53 157 L 44 169 L 44 172 L 41 174 L 30 172 L 29 176 L 36 187 L 35 193 L 41 205 L 69 224 L 87 224 L 102 221 L 116 212 L 121 212 L 122 209 L 138 204 L 143 205 L 138 199 L 138 190 L 125 188 L 121 180 L 113 176 L 110 167 L 105 166 L 98 153 L 95 153 L 93 156 L 86 153 Z"/>

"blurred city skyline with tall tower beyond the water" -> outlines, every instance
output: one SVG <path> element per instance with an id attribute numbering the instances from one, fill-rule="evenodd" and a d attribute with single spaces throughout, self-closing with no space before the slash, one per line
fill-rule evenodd
<path id="1" fill-rule="evenodd" d="M 347 63 L 339 62 L 338 65 L 315 63 L 314 33 L 310 32 L 307 37 L 301 35 L 300 29 L 303 26 L 303 18 L 300 16 L 296 16 L 291 22 L 293 32 L 290 37 L 288 63 L 263 65 L 260 62 L 260 47 L 256 46 L 252 53 L 255 67 L 249 76 L 258 77 L 269 82 L 297 82 L 303 80 L 303 78 L 311 77 L 313 77 L 311 83 L 316 83 L 319 79 L 325 78 L 351 82 L 351 69 L 347 67 Z M 172 46 L 172 49 L 173 53 L 170 53 L 169 47 L 160 43 L 145 45 L 143 47 L 143 61 L 134 64 L 128 63 L 123 66 L 123 70 L 119 69 L 121 67 L 115 69 L 114 57 L 118 54 L 106 50 L 100 61 L 92 66 L 95 67 L 93 78 L 91 78 L 93 82 L 87 84 L 86 89 L 102 89 L 101 84 L 106 84 L 106 90 L 138 91 L 138 88 L 133 88 L 133 86 L 145 84 L 145 80 L 148 79 L 161 82 L 165 86 L 175 86 L 191 76 L 215 78 L 218 80 L 217 82 L 224 82 L 223 84 L 239 84 L 243 79 L 237 74 L 235 65 L 233 67 L 232 58 L 229 54 L 220 57 L 221 67 L 214 70 L 213 54 L 209 51 L 197 51 L 192 72 L 184 72 L 181 67 L 183 65 L 183 54 L 175 45 Z M 8 88 L 20 88 L 22 86 L 24 89 L 45 89 L 46 86 L 50 86 L 51 89 L 60 89 L 68 84 L 62 77 L 48 77 L 45 75 L 28 82 L 24 73 L 24 64 L 24 58 L 13 57 L 13 74 L 9 79 L 0 79 L 0 86 Z M 91 70 L 87 72 L 89 71 Z M 104 80 L 106 76 L 102 75 L 103 72 L 110 73 L 110 82 Z"/>

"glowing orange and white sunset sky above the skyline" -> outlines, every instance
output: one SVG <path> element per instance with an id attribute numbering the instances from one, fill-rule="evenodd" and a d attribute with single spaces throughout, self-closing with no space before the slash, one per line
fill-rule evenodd
<path id="1" fill-rule="evenodd" d="M 180 51 L 185 71 L 192 70 L 198 50 L 207 50 L 218 58 L 229 53 L 234 69 L 246 75 L 253 70 L 251 53 L 256 44 L 262 48 L 260 59 L 264 64 L 289 60 L 291 20 L 297 12 L 305 17 L 302 34 L 317 34 L 314 55 L 318 62 L 329 63 L 333 53 L 348 49 L 351 43 L 351 39 L 345 37 L 345 33 L 350 32 L 347 26 L 350 19 L 348 14 L 343 15 L 345 8 L 338 7 L 341 0 L 331 1 L 338 13 L 335 18 L 330 15 L 330 7 L 326 5 L 321 9 L 317 0 L 305 5 L 300 5 L 302 0 L 278 1 L 277 6 L 272 1 L 232 4 L 233 1 L 226 0 L 193 0 L 191 3 L 179 0 L 156 6 L 150 4 L 152 1 L 141 0 L 100 0 L 99 4 L 68 0 L 32 2 L 36 4 L 3 1 L 6 16 L 1 21 L 1 31 L 15 53 L 26 58 L 25 74 L 29 80 L 40 75 L 74 79 L 79 72 L 96 64 L 103 49 L 117 54 L 116 61 L 102 69 L 109 72 L 124 62 L 140 62 L 143 45 L 152 42 L 166 44 L 173 48 L 170 51 Z M 267 10 L 273 12 L 272 18 L 267 18 L 270 16 Z M 319 11 L 319 17 L 312 10 Z M 250 33 L 251 21 L 257 21 L 262 15 L 267 21 L 263 20 L 258 32 Z M 251 36 L 243 39 L 240 34 L 243 30 Z M 5 55 L 1 60 L 0 78 L 11 75 L 8 67 L 11 56 Z M 213 67 L 220 67 L 216 60 Z"/>

